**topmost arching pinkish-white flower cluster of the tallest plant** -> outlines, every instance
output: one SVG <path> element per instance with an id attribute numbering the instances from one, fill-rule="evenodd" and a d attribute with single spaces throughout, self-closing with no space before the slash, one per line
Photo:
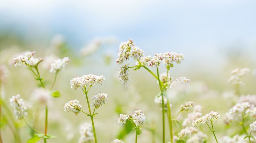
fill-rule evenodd
<path id="1" fill-rule="evenodd" d="M 129 39 L 128 41 L 122 42 L 119 46 L 116 62 L 117 64 L 121 65 L 129 59 L 129 56 L 140 60 L 143 56 L 143 53 L 144 51 L 139 49 L 139 47 L 136 47 L 134 41 Z"/>

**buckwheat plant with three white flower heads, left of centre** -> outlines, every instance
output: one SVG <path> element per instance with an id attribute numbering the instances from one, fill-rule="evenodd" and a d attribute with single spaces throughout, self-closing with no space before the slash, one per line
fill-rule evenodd
<path id="1" fill-rule="evenodd" d="M 108 95 L 106 93 L 99 92 L 91 98 L 93 100 L 93 103 L 91 105 L 94 107 L 94 111 L 92 113 L 87 93 L 93 85 L 96 85 L 96 84 L 102 85 L 103 80 L 106 80 L 103 77 L 103 75 L 98 76 L 95 74 L 85 74 L 81 77 L 75 77 L 70 80 L 71 88 L 73 88 L 75 90 L 82 89 L 83 92 L 85 93 L 86 101 L 87 101 L 87 105 L 88 105 L 90 114 L 85 113 L 84 111 L 81 110 L 82 106 L 79 104 L 79 101 L 77 101 L 76 99 L 69 101 L 63 107 L 64 111 L 66 111 L 66 112 L 72 111 L 73 113 L 75 113 L 75 115 L 78 115 L 78 113 L 81 111 L 81 112 L 85 113 L 86 116 L 91 117 L 95 143 L 97 143 L 97 138 L 96 138 L 96 131 L 95 131 L 93 117 L 96 114 L 98 114 L 98 113 L 95 113 L 95 109 L 99 108 L 102 104 L 105 104 L 107 102 Z"/>

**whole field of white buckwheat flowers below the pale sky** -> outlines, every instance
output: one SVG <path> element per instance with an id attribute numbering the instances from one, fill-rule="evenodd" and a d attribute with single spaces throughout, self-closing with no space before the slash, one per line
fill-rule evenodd
<path id="1" fill-rule="evenodd" d="M 1 143 L 256 142 L 254 63 L 187 68 L 186 55 L 135 41 L 1 45 Z"/>

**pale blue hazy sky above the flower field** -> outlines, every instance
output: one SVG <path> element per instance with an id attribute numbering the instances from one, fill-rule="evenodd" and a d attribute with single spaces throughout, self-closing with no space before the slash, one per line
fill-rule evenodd
<path id="1" fill-rule="evenodd" d="M 74 49 L 95 36 L 129 38 L 152 55 L 213 60 L 236 48 L 256 52 L 254 0 L 0 0 L 0 29 L 32 38 L 63 34 Z M 241 49 L 239 49 L 241 48 Z M 210 58 L 208 58 L 210 57 Z"/>

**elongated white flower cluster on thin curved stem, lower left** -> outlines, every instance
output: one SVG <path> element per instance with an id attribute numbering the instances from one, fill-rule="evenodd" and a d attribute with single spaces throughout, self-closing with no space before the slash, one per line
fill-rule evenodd
<path id="1" fill-rule="evenodd" d="M 28 113 L 25 112 L 27 108 L 24 106 L 24 102 L 22 98 L 20 98 L 20 95 L 17 94 L 16 96 L 12 96 L 9 101 L 14 109 L 14 115 L 16 116 L 16 118 L 22 120 L 22 118 Z"/>

